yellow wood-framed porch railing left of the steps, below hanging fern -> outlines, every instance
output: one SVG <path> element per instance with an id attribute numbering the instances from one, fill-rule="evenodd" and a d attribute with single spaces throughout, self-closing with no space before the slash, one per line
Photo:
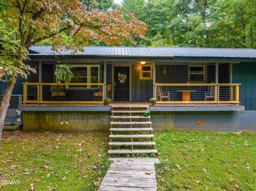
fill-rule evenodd
<path id="1" fill-rule="evenodd" d="M 105 83 L 22 83 L 23 103 L 103 103 Z"/>

